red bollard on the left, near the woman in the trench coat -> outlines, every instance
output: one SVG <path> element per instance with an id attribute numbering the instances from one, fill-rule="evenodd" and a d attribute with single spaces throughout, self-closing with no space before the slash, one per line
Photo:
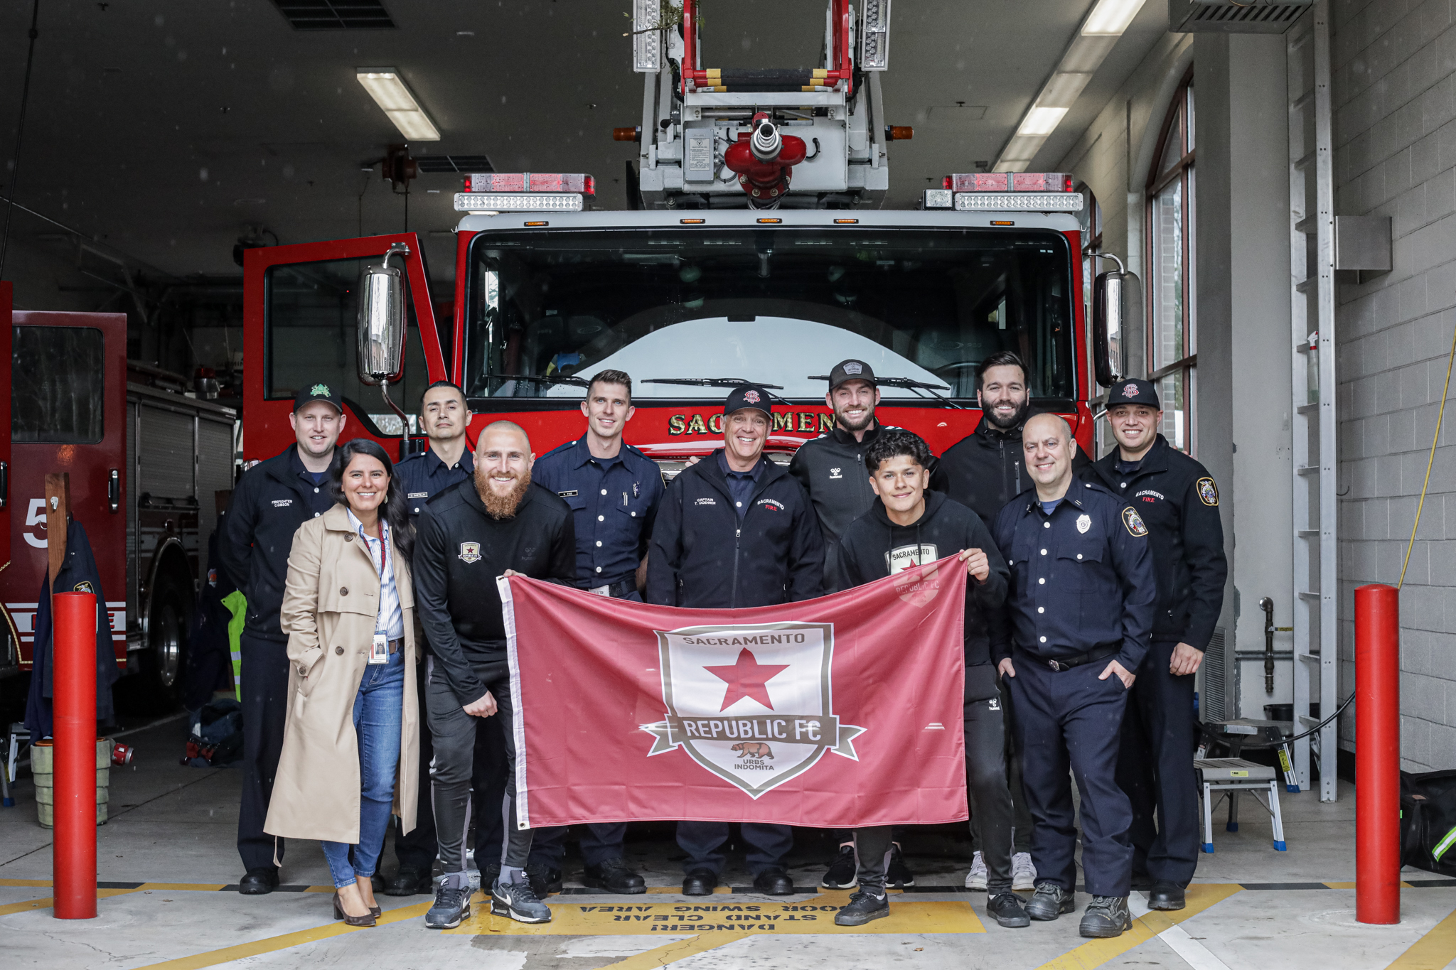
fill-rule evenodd
<path id="1" fill-rule="evenodd" d="M 57 919 L 96 918 L 96 596 L 51 596 Z"/>

